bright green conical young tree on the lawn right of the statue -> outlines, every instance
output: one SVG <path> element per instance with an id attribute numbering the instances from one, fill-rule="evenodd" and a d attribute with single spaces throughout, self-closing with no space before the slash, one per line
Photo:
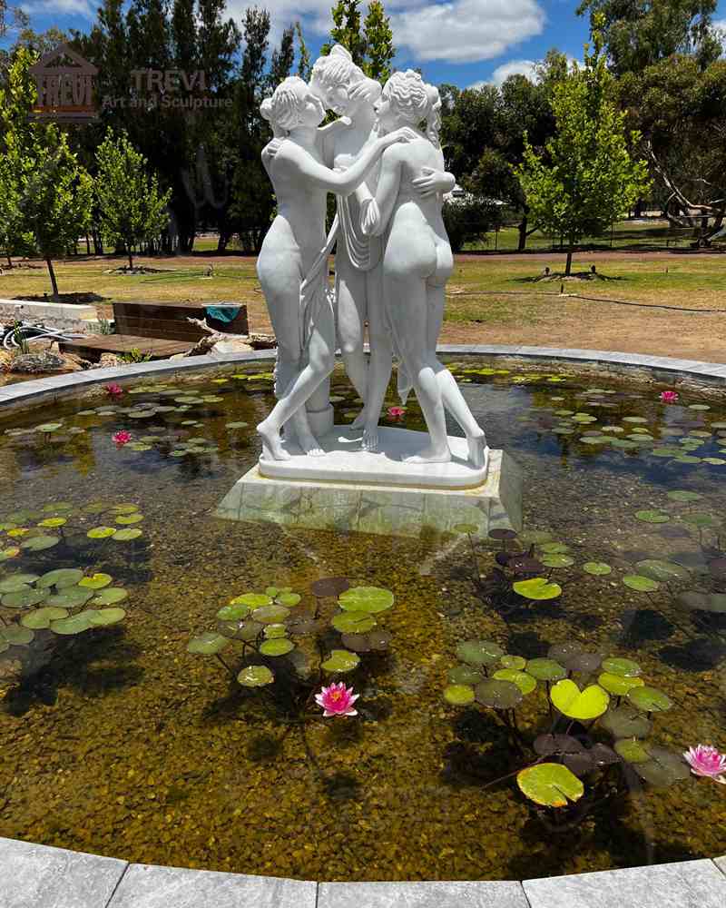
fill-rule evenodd
<path id="1" fill-rule="evenodd" d="M 647 164 L 628 151 L 625 114 L 613 102 L 613 78 L 605 67 L 600 17 L 594 22 L 594 49 L 590 53 L 585 44 L 584 70 L 554 88 L 554 137 L 538 153 L 525 135 L 525 160 L 515 168 L 532 220 L 567 241 L 568 277 L 575 244 L 602 236 L 650 184 Z M 630 136 L 632 144 L 638 140 Z"/>

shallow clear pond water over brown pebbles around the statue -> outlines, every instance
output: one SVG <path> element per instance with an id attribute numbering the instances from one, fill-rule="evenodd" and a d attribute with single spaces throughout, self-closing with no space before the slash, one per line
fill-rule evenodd
<path id="1" fill-rule="evenodd" d="M 383 538 L 213 517 L 259 456 L 269 372 L 141 382 L 118 399 L 98 390 L 4 423 L 0 834 L 321 880 L 525 878 L 726 852 L 726 787 L 685 772 L 662 785 L 672 764 L 662 758 L 661 772 L 656 751 L 626 751 L 631 762 L 607 778 L 621 773 L 632 794 L 600 785 L 589 811 L 553 834 L 556 812 L 537 814 L 515 775 L 501 779 L 531 764 L 535 735 L 552 728 L 544 684 L 517 707 L 521 740 L 509 714 L 443 696 L 463 641 L 525 659 L 567 643 L 561 660 L 634 660 L 667 695 L 648 747 L 726 750 L 726 406 L 683 393 L 666 405 L 660 387 L 594 387 L 569 370 L 453 366 L 490 443 L 525 472 L 525 533 L 505 544 L 535 545 L 558 597 L 520 597 L 508 581 L 493 592 L 503 543 L 477 544 L 476 566 L 466 532 Z M 333 393 L 349 421 L 358 404 L 342 373 Z M 422 428 L 415 400 L 404 424 Z M 132 436 L 123 447 L 120 430 Z M 334 597 L 310 591 L 325 577 L 393 594 L 375 615 L 390 643 L 339 676 L 359 694 L 357 717 L 323 719 L 312 706 L 317 716 L 295 725 L 293 667 L 307 664 L 312 693 L 318 649 L 341 646 L 327 626 Z M 225 667 L 188 651 L 233 597 L 268 587 L 301 597 L 287 600 L 299 620 L 292 654 L 243 657 L 235 640 Z M 74 617 L 89 607 L 93 622 Z M 280 639 L 272 627 L 264 634 Z M 234 680 L 260 661 L 280 684 Z M 580 686 L 603 670 L 599 658 L 589 675 L 571 665 Z M 556 730 L 613 744 L 602 721 Z M 639 759 L 655 766 L 644 781 Z"/>

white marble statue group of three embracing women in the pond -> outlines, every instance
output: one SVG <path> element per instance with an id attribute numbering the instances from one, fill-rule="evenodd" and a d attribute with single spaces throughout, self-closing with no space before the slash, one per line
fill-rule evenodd
<path id="1" fill-rule="evenodd" d="M 340 45 L 319 58 L 309 84 L 289 77 L 263 102 L 273 139 L 262 160 L 278 214 L 257 271 L 278 341 L 278 402 L 257 427 L 261 461 L 325 456 L 339 348 L 364 401 L 341 429 L 358 433 L 358 450 L 386 453 L 378 420 L 396 356 L 398 392 L 405 400 L 415 390 L 429 436 L 407 460 L 452 459 L 448 413 L 466 436 L 468 462 L 486 472 L 484 429 L 437 359 L 453 269 L 441 208 L 455 183 L 438 141 L 440 107 L 437 89 L 416 72 L 394 73 L 381 89 Z M 321 127 L 327 110 L 338 120 Z M 329 193 L 337 214 L 326 235 Z"/>

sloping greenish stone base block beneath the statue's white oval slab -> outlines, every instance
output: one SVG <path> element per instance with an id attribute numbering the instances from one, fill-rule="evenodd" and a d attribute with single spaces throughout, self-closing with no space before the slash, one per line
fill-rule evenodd
<path id="1" fill-rule="evenodd" d="M 493 450 L 486 482 L 474 489 L 270 479 L 255 466 L 223 498 L 215 516 L 286 527 L 419 537 L 472 524 L 522 528 L 522 471 L 505 451 Z"/>

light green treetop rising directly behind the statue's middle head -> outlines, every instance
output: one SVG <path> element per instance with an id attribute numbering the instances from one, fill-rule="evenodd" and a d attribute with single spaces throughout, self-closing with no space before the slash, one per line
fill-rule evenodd
<path id="1" fill-rule="evenodd" d="M 320 53 L 329 54 L 333 44 L 342 44 L 366 75 L 385 82 L 391 74 L 390 62 L 396 48 L 381 0 L 371 0 L 362 24 L 360 0 L 338 0 L 330 14 L 333 17 L 330 41 L 322 45 Z"/>

